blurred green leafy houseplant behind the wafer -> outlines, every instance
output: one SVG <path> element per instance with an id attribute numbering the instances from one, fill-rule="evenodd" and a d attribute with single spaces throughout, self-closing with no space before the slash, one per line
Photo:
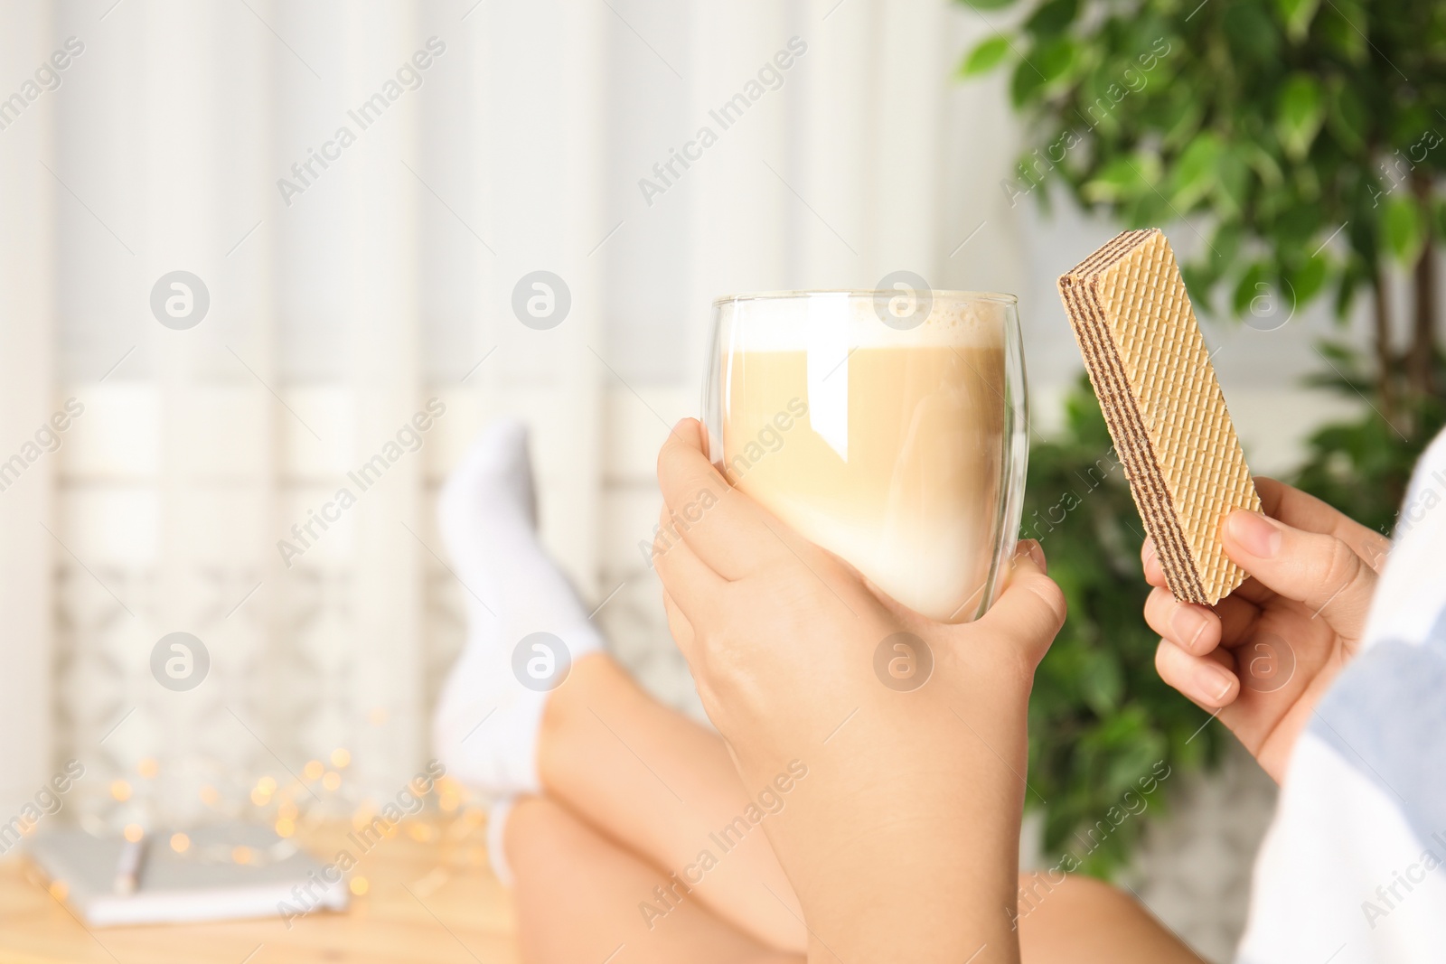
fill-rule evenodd
<path id="1" fill-rule="evenodd" d="M 1030 132 L 1001 184 L 1011 204 L 1063 192 L 1124 227 L 1183 223 L 1199 250 L 1181 270 L 1206 315 L 1272 327 L 1275 312 L 1329 298 L 1346 322 L 1364 302 L 1369 347 L 1322 344 L 1314 379 L 1359 397 L 1362 415 L 1319 429 L 1294 481 L 1390 530 L 1410 465 L 1446 422 L 1436 298 L 1446 7 L 966 3 L 992 30 L 959 72 L 1006 71 Z M 1190 769 L 1213 759 L 1219 734 L 1194 736 L 1205 714 L 1154 676 L 1141 523 L 1122 471 L 1086 481 L 1109 449 L 1087 386 L 1069 409 L 1064 435 L 1031 455 L 1025 504 L 1024 535 L 1047 520 L 1038 535 L 1071 607 L 1031 707 L 1030 799 L 1048 799 L 1047 851 L 1073 850 L 1109 873 L 1141 821 L 1087 854 L 1080 828 L 1118 806 L 1152 760 Z"/>

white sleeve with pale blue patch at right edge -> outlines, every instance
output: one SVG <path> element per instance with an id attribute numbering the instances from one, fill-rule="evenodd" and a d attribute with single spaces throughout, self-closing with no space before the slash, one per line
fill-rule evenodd
<path id="1" fill-rule="evenodd" d="M 1446 432 L 1417 464 L 1362 650 L 1301 734 L 1239 964 L 1446 960 Z"/>

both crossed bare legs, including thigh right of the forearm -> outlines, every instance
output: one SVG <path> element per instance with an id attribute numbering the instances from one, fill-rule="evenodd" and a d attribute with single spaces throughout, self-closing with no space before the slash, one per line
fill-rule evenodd
<path id="1" fill-rule="evenodd" d="M 690 941 L 701 941 L 688 948 L 687 960 L 704 960 L 697 948 L 714 947 L 706 939 L 707 928 L 714 926 L 737 938 L 720 938 L 723 954 L 745 954 L 716 960 L 750 960 L 746 954 L 769 950 L 782 952 L 782 960 L 804 954 L 807 931 L 797 898 L 762 830 L 755 828 L 726 853 L 710 837 L 750 802 L 716 734 L 655 702 L 610 658 L 593 655 L 578 660 L 548 701 L 539 757 L 545 792 L 555 802 L 526 801 L 508 827 L 525 941 L 555 938 L 548 932 L 555 929 L 558 906 L 548 903 L 549 890 L 534 892 L 523 880 L 548 882 L 587 866 L 589 882 L 606 883 L 594 887 L 596 899 L 578 896 L 570 913 L 586 908 L 581 912 L 590 916 L 586 925 L 577 918 L 583 926 L 568 931 L 596 931 L 606 942 L 607 935 L 636 925 L 635 932 L 651 941 L 665 924 L 674 928 L 675 921 L 691 921 L 691 909 L 697 909 L 703 921 L 697 929 L 674 928 Z M 555 840 L 549 843 L 548 834 Z M 717 866 L 697 885 L 680 887 L 671 874 L 697 866 L 700 850 L 711 851 Z M 590 854 L 586 863 L 584 853 Z M 547 887 L 558 885 L 552 880 Z M 667 902 L 656 887 L 665 895 L 672 887 Z M 1199 963 L 1144 908 L 1109 885 L 1079 876 L 1051 885 L 1040 874 L 1022 874 L 1019 887 L 1025 961 Z M 680 893 L 685 896 L 678 899 Z M 661 919 L 646 915 L 651 931 L 642 903 L 667 911 Z M 619 942 L 626 938 L 602 948 L 602 958 Z"/>

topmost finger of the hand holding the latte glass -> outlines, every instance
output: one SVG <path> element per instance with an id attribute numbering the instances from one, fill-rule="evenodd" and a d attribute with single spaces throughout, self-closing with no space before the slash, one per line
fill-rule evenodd
<path id="1" fill-rule="evenodd" d="M 785 546 L 766 529 L 759 507 L 724 481 L 709 461 L 697 419 L 683 419 L 658 452 L 668 525 L 698 558 L 726 580 L 740 580 Z M 681 601 L 681 600 L 680 600 Z"/>

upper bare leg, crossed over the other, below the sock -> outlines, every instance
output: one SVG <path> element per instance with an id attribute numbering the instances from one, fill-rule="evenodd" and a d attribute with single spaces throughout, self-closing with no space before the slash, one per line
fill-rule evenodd
<path id="1" fill-rule="evenodd" d="M 762 827 L 737 843 L 720 837 L 753 802 L 723 741 L 654 701 L 606 655 L 580 659 L 548 700 L 538 770 L 548 796 L 658 869 L 619 896 L 629 913 L 655 899 L 654 887 L 675 886 L 677 873 L 688 877 L 690 902 L 762 947 L 804 954 L 803 912 Z M 704 853 L 716 861 L 706 870 Z M 519 879 L 523 860 L 512 860 Z"/>

